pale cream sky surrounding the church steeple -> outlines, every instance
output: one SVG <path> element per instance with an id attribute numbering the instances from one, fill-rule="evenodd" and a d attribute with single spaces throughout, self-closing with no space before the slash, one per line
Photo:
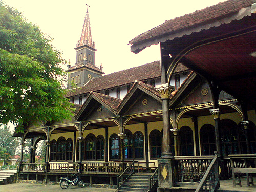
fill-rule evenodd
<path id="1" fill-rule="evenodd" d="M 102 62 L 110 74 L 160 60 L 160 48 L 152 45 L 138 54 L 130 51 L 129 41 L 165 20 L 204 9 L 223 0 L 117 1 L 117 0 L 2 0 L 23 12 L 23 16 L 41 31 L 53 37 L 52 45 L 62 58 L 76 62 L 76 42 L 80 39 L 89 4 L 92 39 L 95 40 L 95 64 Z M 67 66 L 63 66 L 67 69 Z"/>

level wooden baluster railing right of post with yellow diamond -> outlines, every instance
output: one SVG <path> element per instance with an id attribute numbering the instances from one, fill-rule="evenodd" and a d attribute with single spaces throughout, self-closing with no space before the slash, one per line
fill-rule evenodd
<path id="1" fill-rule="evenodd" d="M 214 156 L 175 156 L 178 175 L 176 182 L 200 181 Z"/>

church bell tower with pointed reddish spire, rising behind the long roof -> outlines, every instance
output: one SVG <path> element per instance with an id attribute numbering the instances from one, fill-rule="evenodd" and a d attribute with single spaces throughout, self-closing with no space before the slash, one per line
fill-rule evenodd
<path id="1" fill-rule="evenodd" d="M 86 4 L 87 5 L 87 4 Z M 84 18 L 82 34 L 76 44 L 76 63 L 74 66 L 68 66 L 68 89 L 73 87 L 82 87 L 89 80 L 102 76 L 102 65 L 95 65 L 95 48 L 94 40 L 92 41 L 90 18 L 87 5 L 86 17 Z"/>

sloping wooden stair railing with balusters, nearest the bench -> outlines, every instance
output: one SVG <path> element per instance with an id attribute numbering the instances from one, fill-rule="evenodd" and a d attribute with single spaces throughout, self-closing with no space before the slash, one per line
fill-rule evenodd
<path id="1" fill-rule="evenodd" d="M 200 191 L 217 191 L 220 187 L 219 180 L 219 163 L 217 152 L 215 152 L 214 159 L 212 159 L 209 167 L 207 168 L 201 182 L 199 183 L 196 192 Z"/>

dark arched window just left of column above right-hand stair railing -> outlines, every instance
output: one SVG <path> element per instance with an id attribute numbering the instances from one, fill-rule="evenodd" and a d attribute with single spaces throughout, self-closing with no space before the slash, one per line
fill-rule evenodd
<path id="1" fill-rule="evenodd" d="M 215 146 L 215 128 L 210 124 L 205 124 L 200 129 L 200 142 L 202 155 L 214 155 Z"/>

